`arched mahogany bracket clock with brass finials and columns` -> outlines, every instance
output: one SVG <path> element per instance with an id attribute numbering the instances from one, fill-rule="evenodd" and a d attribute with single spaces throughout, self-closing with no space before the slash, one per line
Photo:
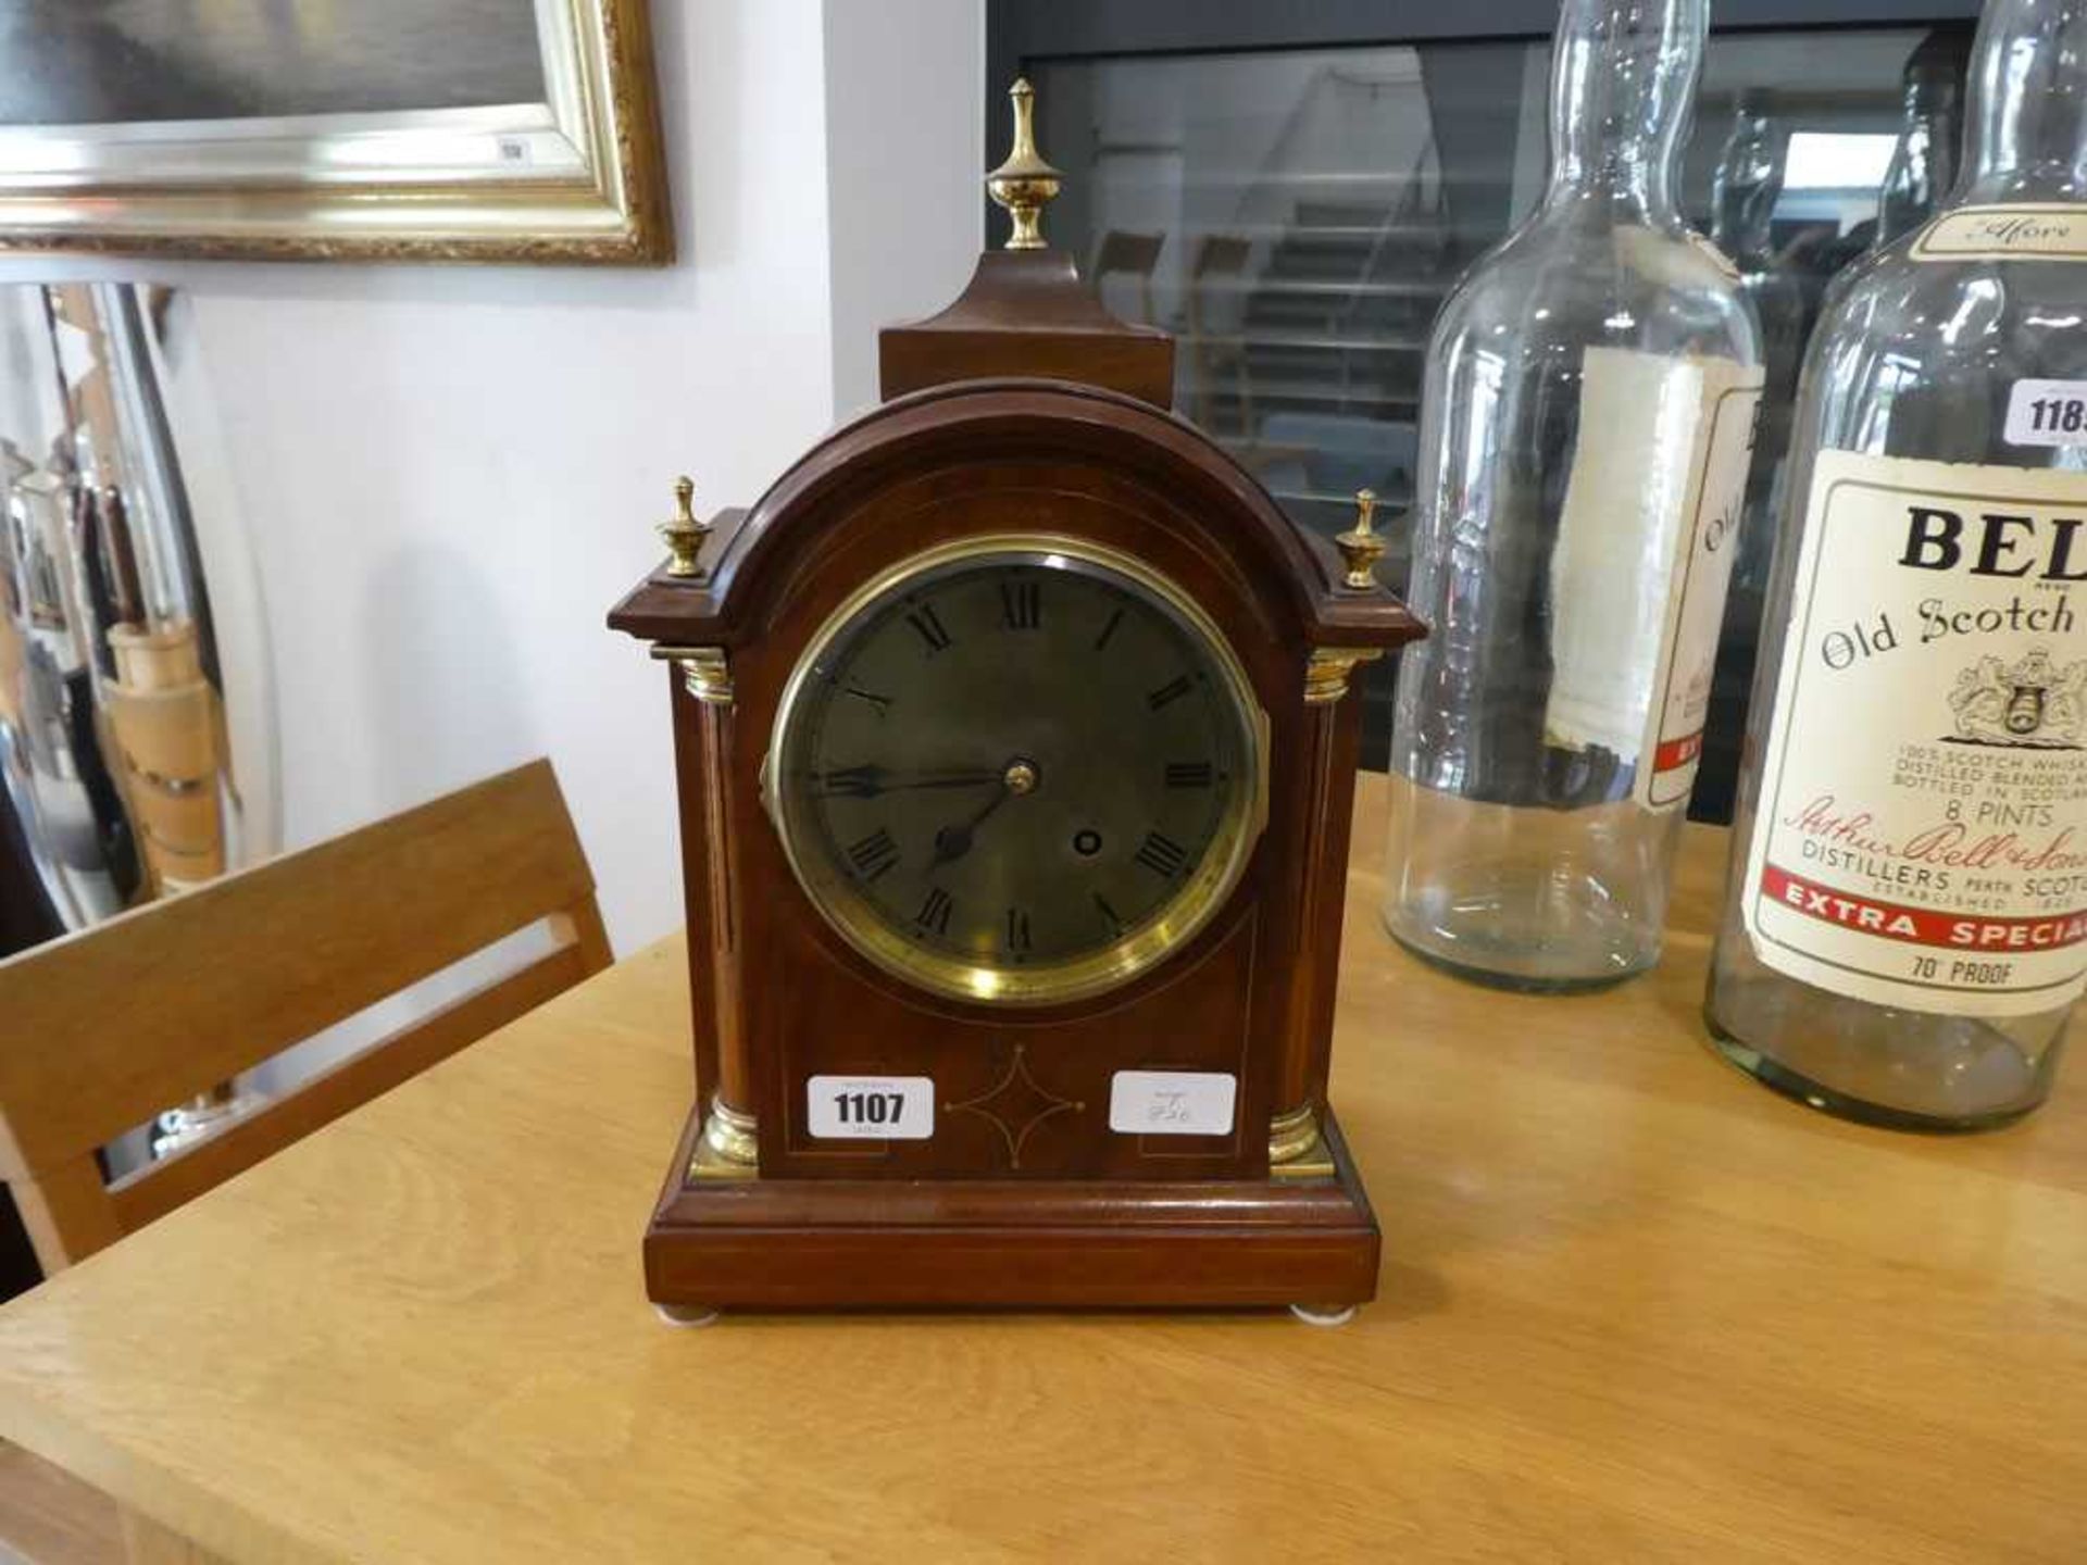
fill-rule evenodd
<path id="1" fill-rule="evenodd" d="M 1014 238 L 883 334 L 885 403 L 609 616 L 672 670 L 695 1110 L 651 1298 L 1373 1296 L 1327 1106 L 1361 745 L 1421 634 L 1167 411 L 1173 342 Z"/>

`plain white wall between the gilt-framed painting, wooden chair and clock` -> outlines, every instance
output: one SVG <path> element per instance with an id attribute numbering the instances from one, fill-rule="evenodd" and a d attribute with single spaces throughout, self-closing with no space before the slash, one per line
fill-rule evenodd
<path id="1" fill-rule="evenodd" d="M 549 753 L 620 952 L 680 922 L 680 885 L 664 674 L 603 613 L 674 474 L 751 503 L 864 401 L 872 326 L 968 275 L 981 173 L 983 0 L 659 0 L 653 27 L 666 271 L 0 261 L 188 300 L 284 845 Z"/>

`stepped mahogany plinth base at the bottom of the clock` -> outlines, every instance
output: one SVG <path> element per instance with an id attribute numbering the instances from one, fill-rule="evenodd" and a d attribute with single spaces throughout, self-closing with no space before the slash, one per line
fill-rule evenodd
<path id="1" fill-rule="evenodd" d="M 1332 1179 L 1108 1185 L 689 1181 L 697 1121 L 645 1231 L 655 1304 L 1338 1310 L 1377 1292 L 1377 1221 L 1332 1112 Z"/>

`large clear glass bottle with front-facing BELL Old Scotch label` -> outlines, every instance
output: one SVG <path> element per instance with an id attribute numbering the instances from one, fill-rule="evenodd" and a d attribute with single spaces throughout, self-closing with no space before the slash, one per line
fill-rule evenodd
<path id="1" fill-rule="evenodd" d="M 2087 0 L 1991 0 L 1962 182 L 1805 367 L 1709 987 L 1853 1118 L 2029 1112 L 2087 985 L 2083 321 Z"/>

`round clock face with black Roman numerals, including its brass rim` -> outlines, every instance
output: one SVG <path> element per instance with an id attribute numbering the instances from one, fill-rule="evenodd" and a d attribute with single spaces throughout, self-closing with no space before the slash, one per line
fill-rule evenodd
<path id="1" fill-rule="evenodd" d="M 1135 561 L 975 540 L 814 641 L 770 797 L 806 891 L 874 962 L 968 1000 L 1064 1000 L 1177 949 L 1231 891 L 1256 716 L 1219 632 Z"/>

